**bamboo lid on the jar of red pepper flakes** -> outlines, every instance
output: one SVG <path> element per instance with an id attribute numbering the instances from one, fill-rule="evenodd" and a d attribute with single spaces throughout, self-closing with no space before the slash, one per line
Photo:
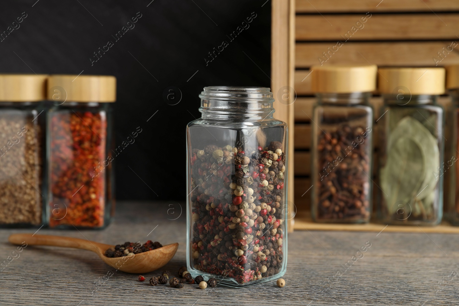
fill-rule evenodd
<path id="1" fill-rule="evenodd" d="M 53 74 L 48 78 L 47 91 L 48 100 L 115 102 L 116 78 L 111 75 Z"/>

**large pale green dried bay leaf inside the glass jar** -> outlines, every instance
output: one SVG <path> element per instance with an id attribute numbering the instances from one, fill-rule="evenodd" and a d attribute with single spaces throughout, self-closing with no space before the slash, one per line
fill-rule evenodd
<path id="1" fill-rule="evenodd" d="M 412 202 L 425 178 L 425 156 L 419 141 L 407 136 L 392 139 L 392 134 L 386 165 L 380 173 L 381 188 L 391 214 L 397 212 L 398 201 Z"/>

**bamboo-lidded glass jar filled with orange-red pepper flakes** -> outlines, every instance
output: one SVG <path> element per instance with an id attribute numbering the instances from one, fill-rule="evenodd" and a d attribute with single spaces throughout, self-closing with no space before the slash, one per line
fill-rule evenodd
<path id="1" fill-rule="evenodd" d="M 114 212 L 113 76 L 51 75 L 47 118 L 51 228 L 103 228 Z"/>

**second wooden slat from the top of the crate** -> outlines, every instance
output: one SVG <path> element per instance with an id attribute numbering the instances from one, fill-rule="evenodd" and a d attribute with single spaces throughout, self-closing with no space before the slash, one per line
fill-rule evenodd
<path id="1" fill-rule="evenodd" d="M 342 42 L 378 39 L 456 40 L 458 33 L 459 14 L 454 13 L 297 16 L 295 32 L 297 40 Z"/>

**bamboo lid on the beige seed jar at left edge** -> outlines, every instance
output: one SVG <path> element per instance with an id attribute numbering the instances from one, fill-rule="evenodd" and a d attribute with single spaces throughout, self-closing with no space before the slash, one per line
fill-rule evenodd
<path id="1" fill-rule="evenodd" d="M 46 74 L 0 74 L 0 101 L 45 100 L 47 77 Z"/>

